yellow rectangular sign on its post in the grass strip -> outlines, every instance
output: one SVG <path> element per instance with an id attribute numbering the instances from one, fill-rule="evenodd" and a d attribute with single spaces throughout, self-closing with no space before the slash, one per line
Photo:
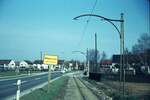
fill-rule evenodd
<path id="1" fill-rule="evenodd" d="M 57 63 L 58 63 L 57 56 L 51 56 L 51 55 L 44 56 L 44 64 L 48 65 L 48 93 L 49 93 L 49 86 L 50 86 L 50 80 L 51 80 L 51 67 L 53 65 L 57 65 Z"/>

